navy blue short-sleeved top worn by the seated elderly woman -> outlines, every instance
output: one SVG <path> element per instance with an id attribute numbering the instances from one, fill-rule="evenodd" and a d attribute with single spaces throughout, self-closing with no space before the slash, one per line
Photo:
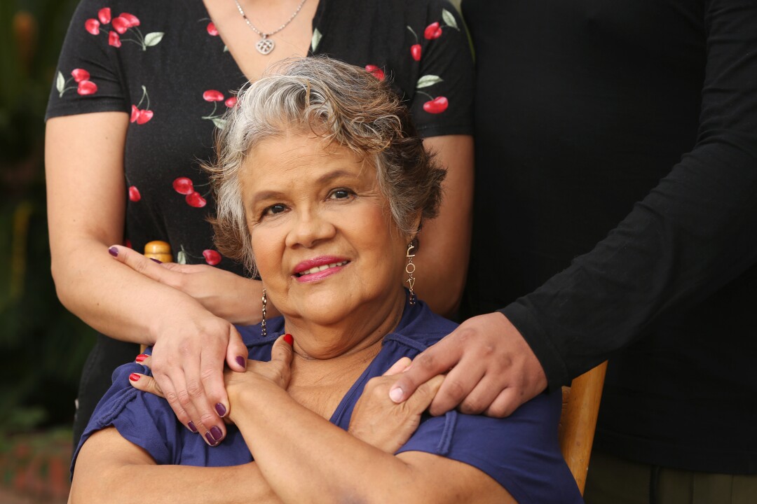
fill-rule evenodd
<path id="1" fill-rule="evenodd" d="M 422 302 L 406 305 L 399 325 L 385 337 L 381 351 L 344 395 L 331 422 L 346 430 L 369 379 L 381 376 L 401 357 L 415 357 L 455 326 L 431 313 Z M 260 326 L 239 329 L 250 349 L 250 358 L 266 361 L 271 357 L 273 342 L 284 332 L 284 320 L 269 320 L 269 335 L 265 338 L 260 336 Z M 72 472 L 82 444 L 93 432 L 110 425 L 123 438 L 147 450 L 158 464 L 224 466 L 251 462 L 251 453 L 238 428 L 229 425 L 222 444 L 207 446 L 200 435 L 179 423 L 166 400 L 132 388 L 131 373 L 149 374 L 149 369 L 139 363 L 116 369 L 113 386 L 98 404 L 76 448 Z M 560 407 L 558 392 L 534 398 L 507 419 L 456 411 L 438 417 L 425 415 L 415 434 L 397 453 L 421 451 L 465 462 L 497 480 L 519 502 L 583 502 L 559 450 Z"/>

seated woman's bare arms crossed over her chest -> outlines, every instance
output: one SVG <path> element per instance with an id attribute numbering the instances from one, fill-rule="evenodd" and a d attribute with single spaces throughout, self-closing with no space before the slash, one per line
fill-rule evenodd
<path id="1" fill-rule="evenodd" d="M 407 441 L 412 431 L 400 424 L 417 425 L 441 379 L 403 405 L 387 399 L 396 376 L 370 380 L 348 432 L 298 404 L 271 378 L 282 376 L 276 366 L 288 366 L 291 349 L 279 342 L 273 356 L 271 363 L 250 361 L 247 373 L 226 374 L 229 417 L 255 462 L 155 465 L 145 450 L 107 428 L 80 451 L 70 502 L 133 502 L 135 494 L 149 502 L 514 502 L 478 468 L 429 453 L 395 456 L 396 435 L 379 441 L 386 438 L 374 427 L 401 432 Z"/>

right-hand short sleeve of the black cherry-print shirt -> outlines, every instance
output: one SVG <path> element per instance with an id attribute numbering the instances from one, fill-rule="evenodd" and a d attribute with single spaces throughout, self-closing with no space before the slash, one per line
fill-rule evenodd
<path id="1" fill-rule="evenodd" d="M 409 26 L 419 79 L 410 113 L 423 138 L 473 134 L 474 69 L 468 32 L 449 2 L 429 2 L 425 26 Z"/>

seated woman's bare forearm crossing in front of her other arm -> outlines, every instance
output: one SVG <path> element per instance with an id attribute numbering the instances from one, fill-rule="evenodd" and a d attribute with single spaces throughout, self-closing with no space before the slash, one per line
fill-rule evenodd
<path id="1" fill-rule="evenodd" d="M 276 385 L 245 388 L 232 397 L 230 414 L 284 502 L 423 502 L 429 495 L 413 465 L 354 438 Z"/>

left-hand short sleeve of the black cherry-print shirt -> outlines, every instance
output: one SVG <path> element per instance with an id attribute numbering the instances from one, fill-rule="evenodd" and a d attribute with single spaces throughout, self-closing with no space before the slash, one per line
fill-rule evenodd
<path id="1" fill-rule="evenodd" d="M 45 119 L 92 112 L 129 112 L 111 8 L 84 0 L 64 40 Z"/>

